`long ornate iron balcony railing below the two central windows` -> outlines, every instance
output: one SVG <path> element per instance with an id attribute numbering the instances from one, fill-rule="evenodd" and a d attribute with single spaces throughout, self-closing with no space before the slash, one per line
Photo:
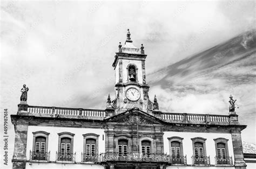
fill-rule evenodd
<path id="1" fill-rule="evenodd" d="M 120 156 L 118 152 L 106 152 L 101 154 L 101 161 L 146 161 L 170 163 L 171 156 L 155 153 L 127 153 Z"/>

